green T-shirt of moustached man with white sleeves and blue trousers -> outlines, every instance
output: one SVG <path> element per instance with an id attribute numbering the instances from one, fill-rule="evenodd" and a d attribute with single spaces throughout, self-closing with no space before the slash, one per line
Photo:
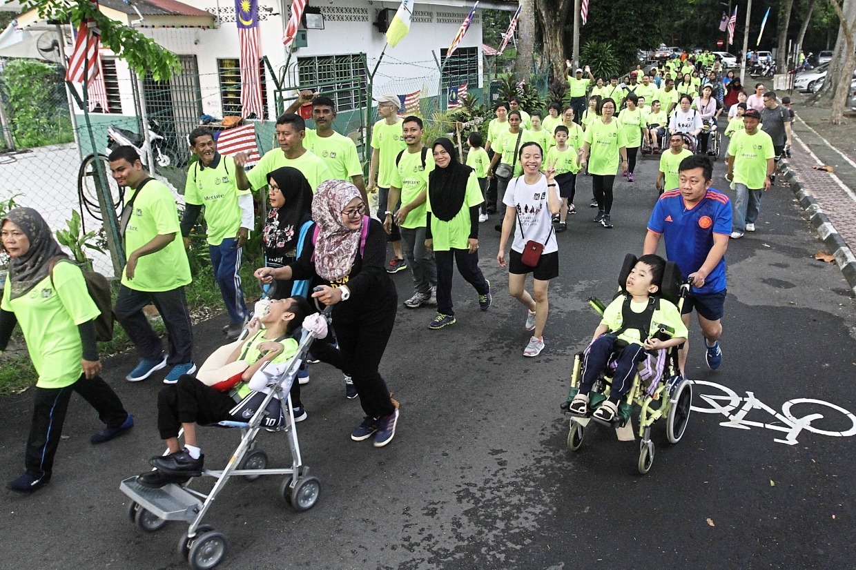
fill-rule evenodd
<path id="1" fill-rule="evenodd" d="M 235 168 L 233 157 L 217 154 L 208 168 L 202 165 L 202 161 L 197 160 L 187 169 L 184 201 L 187 204 L 205 206 L 208 243 L 212 246 L 219 246 L 223 240 L 234 238 L 241 228 L 238 196 L 250 191 L 238 190 Z"/>

